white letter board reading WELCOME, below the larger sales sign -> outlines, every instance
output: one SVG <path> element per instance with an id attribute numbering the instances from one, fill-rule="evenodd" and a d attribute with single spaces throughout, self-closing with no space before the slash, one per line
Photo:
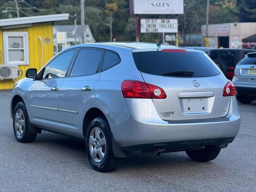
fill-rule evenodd
<path id="1" fill-rule="evenodd" d="M 177 33 L 177 19 L 141 19 L 141 33 Z"/>

